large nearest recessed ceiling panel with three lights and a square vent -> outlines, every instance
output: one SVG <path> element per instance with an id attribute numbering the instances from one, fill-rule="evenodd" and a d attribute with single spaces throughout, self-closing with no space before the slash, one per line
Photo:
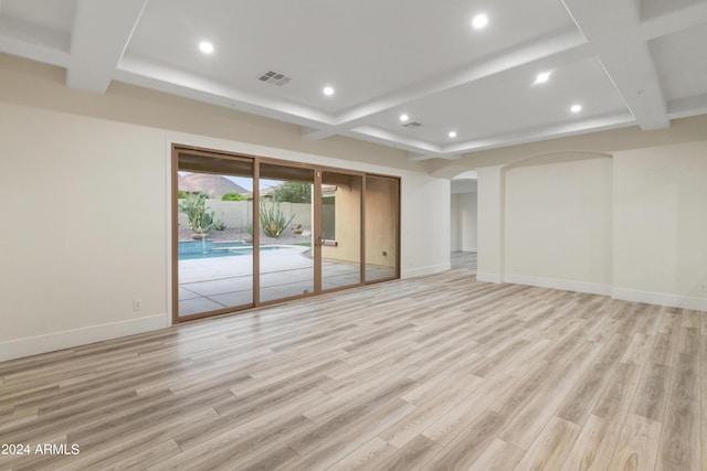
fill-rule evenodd
<path id="1" fill-rule="evenodd" d="M 484 30 L 471 24 L 478 12 Z M 557 0 L 150 0 L 127 55 L 336 114 L 572 25 Z M 266 87 L 257 77 L 271 69 L 292 81 Z"/>

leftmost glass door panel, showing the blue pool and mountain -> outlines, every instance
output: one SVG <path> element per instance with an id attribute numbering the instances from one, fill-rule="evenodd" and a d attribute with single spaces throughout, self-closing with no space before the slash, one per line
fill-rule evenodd
<path id="1" fill-rule="evenodd" d="M 253 306 L 253 162 L 180 152 L 178 317 Z"/>

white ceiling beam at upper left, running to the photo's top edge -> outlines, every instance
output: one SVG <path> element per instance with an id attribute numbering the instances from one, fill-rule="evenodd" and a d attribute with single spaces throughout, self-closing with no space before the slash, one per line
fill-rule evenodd
<path id="1" fill-rule="evenodd" d="M 147 0 L 78 0 L 66 86 L 103 94 Z"/>

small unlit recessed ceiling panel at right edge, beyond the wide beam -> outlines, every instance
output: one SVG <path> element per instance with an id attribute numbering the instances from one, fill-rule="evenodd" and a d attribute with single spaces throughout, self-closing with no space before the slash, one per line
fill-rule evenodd
<path id="1" fill-rule="evenodd" d="M 707 94 L 707 24 L 651 41 L 666 99 Z"/>

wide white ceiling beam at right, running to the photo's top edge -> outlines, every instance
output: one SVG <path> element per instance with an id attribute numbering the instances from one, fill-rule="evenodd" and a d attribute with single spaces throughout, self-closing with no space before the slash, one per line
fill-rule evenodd
<path id="1" fill-rule="evenodd" d="M 616 92 L 644 129 L 669 126 L 667 107 L 635 0 L 562 0 Z M 608 13 L 610 12 L 610 13 Z"/>

